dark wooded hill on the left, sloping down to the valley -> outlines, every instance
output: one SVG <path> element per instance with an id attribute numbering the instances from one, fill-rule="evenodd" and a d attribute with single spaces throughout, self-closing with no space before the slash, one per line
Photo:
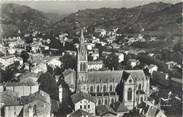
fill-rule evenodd
<path id="1" fill-rule="evenodd" d="M 55 18 L 55 14 L 48 15 L 24 5 L 7 3 L 1 6 L 3 36 L 16 35 L 18 30 L 22 33 L 45 30 Z"/>

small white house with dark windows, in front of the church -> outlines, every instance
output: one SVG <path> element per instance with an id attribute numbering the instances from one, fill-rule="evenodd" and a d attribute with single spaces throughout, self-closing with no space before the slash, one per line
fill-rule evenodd
<path id="1" fill-rule="evenodd" d="M 95 114 L 95 100 L 90 94 L 78 92 L 73 94 L 71 99 L 74 104 L 74 111 L 81 109 L 88 113 Z"/>

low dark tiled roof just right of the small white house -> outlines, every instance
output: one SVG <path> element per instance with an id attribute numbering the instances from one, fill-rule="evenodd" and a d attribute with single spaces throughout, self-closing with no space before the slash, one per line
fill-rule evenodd
<path id="1" fill-rule="evenodd" d="M 96 107 L 96 115 L 105 116 L 105 114 L 111 113 L 116 115 L 116 112 L 108 105 L 99 105 Z"/>

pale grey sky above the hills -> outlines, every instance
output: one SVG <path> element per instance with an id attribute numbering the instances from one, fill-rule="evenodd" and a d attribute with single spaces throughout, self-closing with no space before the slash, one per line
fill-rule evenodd
<path id="1" fill-rule="evenodd" d="M 27 1 L 15 1 L 15 0 L 2 0 L 9 3 L 17 3 L 26 5 L 34 9 L 38 9 L 44 12 L 69 14 L 82 9 L 95 9 L 95 8 L 122 8 L 122 7 L 134 7 L 151 2 L 165 2 L 165 3 L 178 3 L 182 0 L 60 0 L 60 1 L 45 1 L 45 0 L 27 0 Z M 2 3 L 4 3 L 2 2 Z"/>

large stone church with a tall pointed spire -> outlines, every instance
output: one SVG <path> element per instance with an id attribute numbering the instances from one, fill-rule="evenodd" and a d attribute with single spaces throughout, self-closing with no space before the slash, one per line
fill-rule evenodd
<path id="1" fill-rule="evenodd" d="M 143 70 L 88 71 L 88 55 L 83 31 L 77 52 L 76 90 L 90 93 L 96 105 L 110 105 L 119 100 L 116 87 L 123 84 L 123 103 L 128 109 L 147 100 L 150 79 Z"/>

